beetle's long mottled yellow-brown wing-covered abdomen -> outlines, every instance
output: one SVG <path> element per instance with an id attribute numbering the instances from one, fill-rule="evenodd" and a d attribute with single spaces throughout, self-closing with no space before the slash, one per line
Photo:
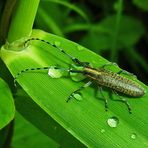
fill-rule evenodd
<path id="1" fill-rule="evenodd" d="M 114 72 L 91 69 L 87 76 L 101 86 L 109 87 L 129 96 L 140 97 L 144 95 L 142 86 Z"/>

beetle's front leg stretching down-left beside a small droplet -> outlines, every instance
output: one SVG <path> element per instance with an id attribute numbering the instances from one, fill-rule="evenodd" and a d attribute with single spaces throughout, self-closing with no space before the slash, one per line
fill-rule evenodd
<path id="1" fill-rule="evenodd" d="M 84 84 L 83 86 L 81 86 L 79 89 L 75 90 L 73 93 L 70 94 L 70 96 L 68 97 L 66 102 L 69 102 L 72 98 L 75 98 L 75 94 L 80 93 L 80 91 L 82 91 L 83 89 L 85 89 L 86 87 L 90 86 L 92 84 L 91 81 L 87 82 L 86 84 Z"/>

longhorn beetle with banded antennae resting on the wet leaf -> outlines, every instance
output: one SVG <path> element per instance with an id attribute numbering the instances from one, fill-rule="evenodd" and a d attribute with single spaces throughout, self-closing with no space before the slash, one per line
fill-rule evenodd
<path id="1" fill-rule="evenodd" d="M 86 84 L 81 86 L 79 89 L 72 92 L 69 95 L 67 102 L 71 98 L 75 98 L 74 97 L 75 94 L 80 93 L 80 91 L 82 91 L 86 87 L 90 86 L 92 83 L 96 83 L 98 85 L 98 88 L 99 88 L 102 96 L 103 96 L 102 86 L 110 88 L 112 90 L 112 92 L 119 97 L 119 99 L 117 99 L 117 101 L 121 101 L 121 102 L 125 103 L 128 107 L 129 113 L 131 113 L 131 107 L 130 107 L 130 104 L 128 103 L 127 99 L 122 98 L 120 95 L 118 95 L 117 92 L 123 93 L 123 94 L 128 95 L 128 96 L 132 96 L 132 97 L 141 97 L 145 94 L 144 88 L 140 84 L 136 83 L 133 80 L 128 79 L 127 77 L 120 75 L 121 73 L 125 73 L 125 74 L 128 74 L 128 75 L 133 75 L 133 74 L 131 74 L 131 73 L 125 71 L 125 70 L 120 70 L 119 72 L 114 73 L 110 70 L 105 69 L 106 66 L 111 65 L 113 63 L 105 64 L 100 68 L 93 68 L 92 66 L 90 66 L 90 64 L 88 62 L 80 61 L 79 59 L 77 59 L 77 58 L 73 57 L 72 55 L 68 54 L 67 52 L 65 52 L 65 50 L 63 50 L 62 48 L 56 46 L 55 44 L 50 43 L 49 41 L 42 40 L 42 39 L 39 39 L 39 38 L 30 38 L 30 39 L 28 39 L 24 42 L 24 45 L 26 46 L 26 44 L 28 42 L 32 41 L 32 40 L 38 40 L 38 41 L 44 42 L 48 45 L 55 47 L 56 49 L 61 51 L 63 54 L 68 56 L 76 65 L 82 67 L 82 69 L 69 68 L 67 70 L 69 73 L 80 73 L 80 74 L 84 75 L 86 79 L 89 80 Z M 14 83 L 16 82 L 16 79 L 22 73 L 25 73 L 27 71 L 32 71 L 32 70 L 41 70 L 41 69 L 49 69 L 49 68 L 50 67 L 24 69 L 24 70 L 20 71 L 15 76 Z M 108 101 L 107 101 L 106 97 L 104 97 L 104 102 L 105 102 L 105 108 L 107 110 Z"/>

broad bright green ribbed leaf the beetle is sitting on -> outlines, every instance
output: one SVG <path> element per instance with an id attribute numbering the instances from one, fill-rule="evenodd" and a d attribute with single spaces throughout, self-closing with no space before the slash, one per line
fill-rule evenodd
<path id="1" fill-rule="evenodd" d="M 107 60 L 99 55 L 61 37 L 39 30 L 34 30 L 32 37 L 58 44 L 81 61 L 90 62 L 93 67 L 100 67 L 107 63 Z M 63 53 L 45 43 L 32 41 L 28 45 L 20 50 L 17 50 L 18 47 L 15 48 L 15 46 L 11 46 L 8 48 L 9 50 L 6 47 L 2 49 L 3 61 L 13 76 L 25 68 L 54 65 L 68 68 L 72 64 L 71 60 Z M 119 70 L 116 66 L 111 66 L 109 69 L 114 72 Z M 96 86 L 86 88 L 82 92 L 83 99 L 81 101 L 73 99 L 66 103 L 68 96 L 84 84 L 84 82 L 72 81 L 70 77 L 53 79 L 44 70 L 26 72 L 20 75 L 17 81 L 41 109 L 85 146 L 148 147 L 147 93 L 138 99 L 129 98 L 133 112 L 129 114 L 125 104 L 111 99 L 109 99 L 109 110 L 105 111 L 104 102 L 98 99 L 101 98 L 101 95 L 98 94 L 99 97 L 95 97 Z M 141 82 L 138 83 L 147 90 L 147 86 Z M 111 98 L 109 92 L 109 89 L 103 91 L 106 97 Z M 113 97 L 117 98 L 117 96 Z M 114 124 L 112 120 L 108 120 L 111 117 L 119 120 L 114 128 L 107 123 L 107 121 L 111 121 Z M 56 132 L 58 133 L 58 131 Z"/>

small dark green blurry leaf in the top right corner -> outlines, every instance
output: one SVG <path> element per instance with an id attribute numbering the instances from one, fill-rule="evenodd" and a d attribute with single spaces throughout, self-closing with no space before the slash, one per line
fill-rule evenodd
<path id="1" fill-rule="evenodd" d="M 133 0 L 133 3 L 137 5 L 137 7 L 148 11 L 148 0 Z"/>

